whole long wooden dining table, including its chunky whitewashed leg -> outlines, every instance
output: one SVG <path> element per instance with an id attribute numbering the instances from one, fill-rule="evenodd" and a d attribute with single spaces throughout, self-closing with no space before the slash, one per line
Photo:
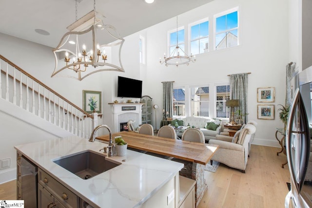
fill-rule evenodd
<path id="1" fill-rule="evenodd" d="M 122 136 L 129 148 L 149 151 L 180 159 L 187 172 L 180 171 L 180 175 L 196 181 L 195 204 L 199 204 L 205 191 L 208 189 L 204 180 L 204 168 L 218 149 L 218 145 L 202 144 L 160 136 L 151 136 L 136 132 L 117 132 L 112 134 Z M 108 142 L 109 135 L 98 136 L 97 139 Z"/>

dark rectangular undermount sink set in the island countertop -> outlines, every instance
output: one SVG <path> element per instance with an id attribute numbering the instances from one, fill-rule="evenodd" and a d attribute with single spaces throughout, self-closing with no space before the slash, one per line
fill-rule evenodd
<path id="1" fill-rule="evenodd" d="M 56 164 L 71 171 L 82 179 L 89 179 L 102 172 L 117 167 L 117 162 L 108 161 L 105 155 L 94 151 L 82 151 L 57 159 Z"/>

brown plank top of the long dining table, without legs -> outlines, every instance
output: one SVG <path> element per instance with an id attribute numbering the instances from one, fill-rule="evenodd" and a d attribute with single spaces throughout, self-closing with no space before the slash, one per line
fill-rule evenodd
<path id="1" fill-rule="evenodd" d="M 218 145 L 189 142 L 160 136 L 140 134 L 137 132 L 117 132 L 112 137 L 122 136 L 129 148 L 149 151 L 161 155 L 175 157 L 202 165 L 206 165 L 218 149 Z M 109 135 L 97 137 L 98 140 L 109 141 Z"/>

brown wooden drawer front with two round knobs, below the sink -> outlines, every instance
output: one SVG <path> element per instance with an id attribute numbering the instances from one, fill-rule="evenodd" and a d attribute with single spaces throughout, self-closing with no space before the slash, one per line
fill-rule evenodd
<path id="1" fill-rule="evenodd" d="M 38 169 L 38 182 L 65 207 L 77 208 L 79 206 L 79 197 L 75 193 L 61 185 L 57 180 L 41 169 Z"/>

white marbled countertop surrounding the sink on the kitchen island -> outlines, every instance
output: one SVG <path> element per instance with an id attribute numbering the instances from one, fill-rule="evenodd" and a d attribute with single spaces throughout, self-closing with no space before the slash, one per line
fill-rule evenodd
<path id="1" fill-rule="evenodd" d="M 104 146 L 107 144 L 73 136 L 18 145 L 15 149 L 91 206 L 100 208 L 139 207 L 183 168 L 181 163 L 127 150 L 126 156 L 108 158 L 121 165 L 83 180 L 53 162 L 80 151 L 99 151 Z"/>

